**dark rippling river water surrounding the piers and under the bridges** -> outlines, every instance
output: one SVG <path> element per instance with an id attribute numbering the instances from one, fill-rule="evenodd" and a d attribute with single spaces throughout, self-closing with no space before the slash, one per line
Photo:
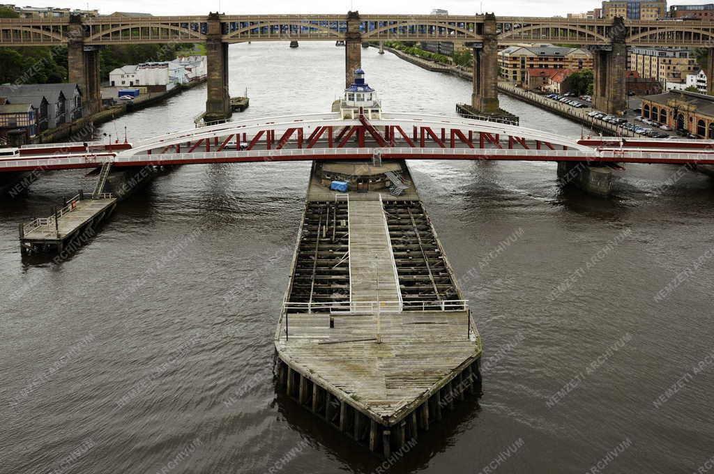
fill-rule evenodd
<path id="1" fill-rule="evenodd" d="M 251 96 L 237 118 L 327 111 L 343 55 L 328 43 L 231 46 L 231 92 Z M 453 114 L 471 97 L 468 82 L 375 49 L 363 67 L 387 110 Z M 101 133 L 190 128 L 205 100 L 194 89 Z M 501 104 L 523 126 L 580 135 Z M 309 163 L 195 165 L 120 203 L 59 263 L 21 258 L 18 223 L 96 177 L 46 173 L 0 201 L 0 472 L 710 470 L 714 181 L 630 165 L 603 199 L 563 190 L 549 163 L 410 164 L 485 353 L 483 398 L 403 459 L 382 465 L 273 386 Z"/>

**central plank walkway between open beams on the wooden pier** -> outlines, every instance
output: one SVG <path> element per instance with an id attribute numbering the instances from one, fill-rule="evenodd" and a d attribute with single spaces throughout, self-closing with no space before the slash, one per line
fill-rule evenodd
<path id="1" fill-rule="evenodd" d="M 394 256 L 381 201 L 349 205 L 351 301 L 398 301 Z"/>

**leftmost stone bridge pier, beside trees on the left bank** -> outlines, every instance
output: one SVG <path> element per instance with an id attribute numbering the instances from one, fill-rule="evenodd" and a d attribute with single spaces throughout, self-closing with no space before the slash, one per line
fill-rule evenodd
<path id="1" fill-rule="evenodd" d="M 83 115 L 101 111 L 101 84 L 99 81 L 99 47 L 84 46 L 84 26 L 81 17 L 69 19 L 67 32 L 67 65 L 69 82 L 79 85 L 82 92 Z"/>

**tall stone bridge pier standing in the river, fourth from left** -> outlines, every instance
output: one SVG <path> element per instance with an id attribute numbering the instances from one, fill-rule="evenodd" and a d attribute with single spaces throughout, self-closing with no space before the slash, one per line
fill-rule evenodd
<path id="1" fill-rule="evenodd" d="M 483 19 L 483 43 L 472 43 L 473 94 L 471 106 L 481 114 L 496 114 L 498 104 L 498 34 L 496 16 L 486 14 Z"/>

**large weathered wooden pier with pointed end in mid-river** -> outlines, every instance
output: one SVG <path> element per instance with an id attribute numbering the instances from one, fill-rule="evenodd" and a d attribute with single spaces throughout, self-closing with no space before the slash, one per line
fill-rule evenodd
<path id="1" fill-rule="evenodd" d="M 275 333 L 278 387 L 388 456 L 481 393 L 481 338 L 416 192 L 326 201 L 316 173 Z M 401 178 L 413 189 L 404 163 Z"/>

